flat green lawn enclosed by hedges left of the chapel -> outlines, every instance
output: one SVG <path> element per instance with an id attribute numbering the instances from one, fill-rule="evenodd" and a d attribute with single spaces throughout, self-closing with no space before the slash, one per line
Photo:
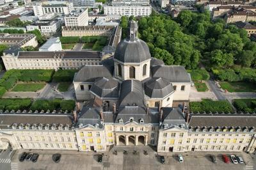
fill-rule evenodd
<path id="1" fill-rule="evenodd" d="M 38 91 L 44 86 L 45 83 L 18 83 L 13 87 L 12 91 Z"/>

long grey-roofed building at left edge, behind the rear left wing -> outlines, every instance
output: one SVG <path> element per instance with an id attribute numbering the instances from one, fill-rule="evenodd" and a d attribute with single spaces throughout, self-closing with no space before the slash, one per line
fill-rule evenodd
<path id="1" fill-rule="evenodd" d="M 1 33 L 0 34 L 0 43 L 9 45 L 9 46 L 17 46 L 17 47 L 26 47 L 33 46 L 36 47 L 38 42 L 36 40 L 36 36 L 33 34 L 8 34 Z"/>

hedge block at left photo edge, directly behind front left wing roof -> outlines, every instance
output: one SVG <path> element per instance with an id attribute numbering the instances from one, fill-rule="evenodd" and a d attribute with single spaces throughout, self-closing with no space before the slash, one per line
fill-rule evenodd
<path id="1" fill-rule="evenodd" d="M 0 99 L 0 109 L 3 111 L 5 110 L 28 110 L 29 106 L 31 105 L 31 99 L 29 98 L 22 98 L 22 99 L 7 99 L 7 98 L 1 98 Z"/>

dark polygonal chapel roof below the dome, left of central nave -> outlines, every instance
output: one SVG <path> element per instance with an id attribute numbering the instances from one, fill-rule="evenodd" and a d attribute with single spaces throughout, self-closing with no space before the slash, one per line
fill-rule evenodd
<path id="1" fill-rule="evenodd" d="M 101 98 L 118 98 L 119 83 L 114 79 L 101 77 L 93 83 L 90 91 Z"/>

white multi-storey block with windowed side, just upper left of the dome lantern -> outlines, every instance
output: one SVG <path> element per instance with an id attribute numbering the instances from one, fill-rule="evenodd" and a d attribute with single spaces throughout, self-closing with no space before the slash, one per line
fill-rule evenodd
<path id="1" fill-rule="evenodd" d="M 64 17 L 65 26 L 88 26 L 88 9 L 73 10 Z"/>

